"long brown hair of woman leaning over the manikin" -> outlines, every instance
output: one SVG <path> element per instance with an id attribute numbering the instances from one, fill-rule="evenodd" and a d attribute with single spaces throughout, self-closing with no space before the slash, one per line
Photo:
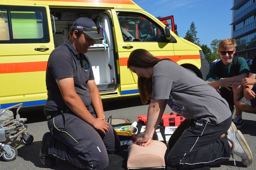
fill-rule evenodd
<path id="1" fill-rule="evenodd" d="M 144 49 L 136 49 L 132 51 L 127 61 L 127 68 L 140 67 L 148 68 L 155 66 L 159 61 L 171 59 L 159 59 Z M 171 60 L 172 61 L 172 60 Z M 142 104 L 148 103 L 152 96 L 152 78 L 138 77 L 138 89 Z"/>

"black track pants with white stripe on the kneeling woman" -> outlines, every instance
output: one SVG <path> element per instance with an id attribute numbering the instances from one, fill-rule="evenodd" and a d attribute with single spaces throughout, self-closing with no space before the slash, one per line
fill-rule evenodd
<path id="1" fill-rule="evenodd" d="M 167 165 L 176 169 L 194 169 L 220 165 L 230 158 L 226 138 L 220 139 L 231 125 L 231 117 L 220 124 L 204 119 L 184 120 L 169 140 Z"/>

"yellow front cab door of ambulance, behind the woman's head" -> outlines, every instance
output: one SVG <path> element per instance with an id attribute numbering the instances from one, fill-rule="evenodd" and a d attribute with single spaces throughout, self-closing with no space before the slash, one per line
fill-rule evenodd
<path id="1" fill-rule="evenodd" d="M 174 61 L 173 43 L 167 42 L 164 27 L 159 24 L 161 21 L 149 14 L 139 10 L 111 11 L 119 57 L 117 64 L 120 65 L 120 94 L 135 94 L 138 93 L 137 75 L 127 69 L 130 53 L 135 49 L 145 49 L 158 58 Z"/>

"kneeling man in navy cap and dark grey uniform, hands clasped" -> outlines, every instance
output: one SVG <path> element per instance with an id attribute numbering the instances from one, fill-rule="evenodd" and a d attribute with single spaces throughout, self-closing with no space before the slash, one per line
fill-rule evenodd
<path id="1" fill-rule="evenodd" d="M 107 153 L 115 152 L 120 141 L 105 121 L 92 66 L 84 55 L 93 39 L 103 38 L 89 18 L 77 19 L 69 36 L 47 64 L 44 114 L 50 132 L 43 136 L 40 159 L 48 167 L 59 158 L 85 169 L 105 169 Z"/>

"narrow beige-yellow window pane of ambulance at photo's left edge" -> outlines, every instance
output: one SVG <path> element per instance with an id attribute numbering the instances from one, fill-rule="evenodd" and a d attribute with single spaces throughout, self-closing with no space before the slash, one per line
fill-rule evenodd
<path id="1" fill-rule="evenodd" d="M 10 40 L 7 10 L 0 9 L 0 40 Z"/>

